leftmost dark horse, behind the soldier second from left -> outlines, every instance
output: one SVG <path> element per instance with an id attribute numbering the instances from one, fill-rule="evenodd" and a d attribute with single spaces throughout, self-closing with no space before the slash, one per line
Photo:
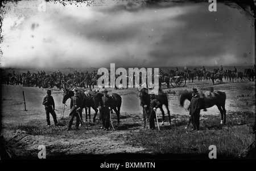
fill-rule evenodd
<path id="1" fill-rule="evenodd" d="M 79 88 L 79 87 L 77 87 Z M 88 108 L 89 110 L 89 119 L 90 119 L 90 107 L 92 107 L 95 111 L 95 114 L 93 116 L 93 122 L 96 122 L 96 116 L 97 116 L 97 113 L 98 113 L 98 109 L 95 107 L 94 105 L 94 101 L 93 101 L 93 98 L 91 96 L 88 95 L 88 93 L 85 93 L 85 91 L 87 91 L 86 89 L 84 88 L 79 88 L 80 89 L 80 93 L 79 93 L 79 97 L 82 98 L 82 108 L 85 108 L 85 114 L 86 114 L 86 119 L 87 119 L 87 110 L 86 108 Z M 71 99 L 72 96 L 74 96 L 74 92 L 69 90 L 69 89 L 63 89 L 64 90 L 64 93 L 63 93 L 63 104 L 65 104 L 65 102 L 68 100 L 68 99 Z"/>

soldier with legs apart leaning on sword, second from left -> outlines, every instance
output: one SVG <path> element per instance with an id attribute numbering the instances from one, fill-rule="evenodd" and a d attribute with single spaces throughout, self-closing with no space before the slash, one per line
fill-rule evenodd
<path id="1" fill-rule="evenodd" d="M 74 89 L 74 94 L 75 95 L 71 97 L 71 101 L 70 101 L 71 112 L 69 113 L 69 116 L 71 116 L 71 119 L 68 123 L 67 131 L 71 130 L 73 119 L 75 117 L 76 117 L 76 130 L 78 130 L 80 118 L 82 119 L 82 99 L 79 97 L 79 92 L 77 88 Z"/>

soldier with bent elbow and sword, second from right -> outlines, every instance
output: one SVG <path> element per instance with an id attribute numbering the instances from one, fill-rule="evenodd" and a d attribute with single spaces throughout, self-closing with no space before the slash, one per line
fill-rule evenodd
<path id="1" fill-rule="evenodd" d="M 149 122 L 150 122 L 150 129 L 155 130 L 155 112 L 156 109 L 159 107 L 160 102 L 155 99 L 155 93 L 150 92 L 150 114 L 149 114 Z"/>

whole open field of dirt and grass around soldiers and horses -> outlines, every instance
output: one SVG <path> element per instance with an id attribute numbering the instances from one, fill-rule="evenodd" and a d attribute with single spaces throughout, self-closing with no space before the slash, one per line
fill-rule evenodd
<path id="1" fill-rule="evenodd" d="M 201 111 L 200 131 L 184 129 L 188 123 L 188 111 L 179 106 L 179 91 L 214 90 L 226 92 L 226 125 L 220 125 L 220 112 L 216 106 Z M 24 100 L 26 109 L 24 111 Z M 80 130 L 66 131 L 69 121 L 69 109 L 65 107 L 64 118 L 59 121 L 61 127 L 47 127 L 46 114 L 42 105 L 46 89 L 38 87 L 7 86 L 2 84 L 2 131 L 1 134 L 9 147 L 7 152 L 14 159 L 38 159 L 38 147 L 46 147 L 47 159 L 99 159 L 101 156 L 112 156 L 113 159 L 125 155 L 127 158 L 146 155 L 149 159 L 209 159 L 209 146 L 217 147 L 217 155 L 222 159 L 237 159 L 243 151 L 254 142 L 251 126 L 255 119 L 255 82 L 224 83 L 212 86 L 210 81 L 187 83 L 185 87 L 164 89 L 169 97 L 169 109 L 172 124 L 160 125 L 160 131 L 143 129 L 142 108 L 139 106 L 137 89 L 110 89 L 110 93 L 121 95 L 121 123 L 115 131 L 103 131 L 101 122 L 85 122 Z M 63 111 L 63 91 L 52 89 L 57 117 Z M 70 100 L 67 101 L 69 106 Z M 185 101 L 185 107 L 189 101 Z M 166 112 L 166 108 L 163 108 Z M 94 110 L 91 109 L 92 117 Z M 52 116 L 51 123 L 53 123 Z M 162 114 L 158 110 L 158 121 Z M 112 115 L 117 122 L 115 113 Z M 83 112 L 85 121 L 85 112 Z M 73 122 L 75 124 L 75 121 Z M 156 124 L 156 122 L 155 122 Z M 157 125 L 156 125 L 157 127 Z M 135 157 L 136 158 L 136 157 Z"/>

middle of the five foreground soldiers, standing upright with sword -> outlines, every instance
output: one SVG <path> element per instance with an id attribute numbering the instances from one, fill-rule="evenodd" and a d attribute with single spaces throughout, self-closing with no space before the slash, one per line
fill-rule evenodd
<path id="1" fill-rule="evenodd" d="M 103 91 L 104 96 L 101 97 L 100 100 L 100 105 L 99 105 L 99 109 L 100 109 L 100 113 L 101 113 L 101 119 L 102 119 L 102 128 L 104 128 L 104 130 L 108 131 L 109 130 L 109 126 L 110 126 L 110 110 L 111 110 L 111 105 L 113 103 L 113 99 L 112 97 L 110 97 L 108 95 L 108 90 L 104 89 Z"/>

